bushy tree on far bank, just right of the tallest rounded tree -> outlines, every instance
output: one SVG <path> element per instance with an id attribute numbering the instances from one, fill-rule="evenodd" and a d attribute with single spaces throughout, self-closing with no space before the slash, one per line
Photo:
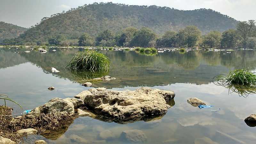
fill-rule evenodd
<path id="1" fill-rule="evenodd" d="M 209 47 L 220 47 L 221 33 L 219 31 L 210 31 L 204 36 L 204 45 Z"/>

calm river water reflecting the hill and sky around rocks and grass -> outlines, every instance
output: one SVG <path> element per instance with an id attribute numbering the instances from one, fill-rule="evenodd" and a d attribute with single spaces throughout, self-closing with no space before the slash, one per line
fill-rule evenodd
<path id="1" fill-rule="evenodd" d="M 38 107 L 55 97 L 74 97 L 89 89 L 79 82 L 81 78 L 93 75 L 71 73 L 65 69 L 74 53 L 83 49 L 51 50 L 47 53 L 25 53 L 24 49 L 0 48 L 0 93 L 8 94 L 24 110 Z M 168 109 L 164 117 L 148 122 L 117 124 L 79 117 L 67 130 L 57 132 L 60 135 L 55 139 L 30 136 L 25 139 L 26 143 L 38 139 L 56 144 L 125 143 L 120 134 L 132 129 L 143 131 L 147 136 L 145 143 L 151 144 L 255 143 L 256 127 L 247 126 L 244 118 L 256 113 L 256 95 L 244 98 L 237 93 L 229 94 L 225 87 L 213 84 L 212 77 L 235 68 L 255 70 L 256 51 L 236 50 L 227 54 L 204 51 L 181 54 L 177 51 L 155 56 L 134 51 L 101 52 L 111 59 L 112 70 L 108 75 L 118 79 L 99 82 L 95 86 L 113 90 L 135 90 L 141 86 L 171 90 L 176 93 L 175 105 L 172 102 L 173 107 Z M 51 67 L 60 73 L 52 74 Z M 56 89 L 49 91 L 47 88 L 50 86 Z M 221 110 L 213 112 L 193 107 L 187 103 L 188 97 L 197 97 Z M 10 102 L 8 105 L 15 107 L 16 113 L 23 111 Z M 113 132 L 115 138 L 100 140 L 99 133 L 106 130 Z"/>

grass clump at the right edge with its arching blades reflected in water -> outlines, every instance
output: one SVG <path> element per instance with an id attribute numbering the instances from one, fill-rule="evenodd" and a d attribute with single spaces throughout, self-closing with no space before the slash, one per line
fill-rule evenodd
<path id="1" fill-rule="evenodd" d="M 239 96 L 247 97 L 256 92 L 256 73 L 246 69 L 236 69 L 229 71 L 227 75 L 215 76 L 212 81 L 216 85 L 221 85 L 236 92 Z"/>

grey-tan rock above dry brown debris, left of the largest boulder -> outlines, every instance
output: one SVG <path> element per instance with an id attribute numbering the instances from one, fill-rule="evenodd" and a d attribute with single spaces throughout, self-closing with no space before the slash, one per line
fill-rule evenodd
<path id="1" fill-rule="evenodd" d="M 75 113 L 74 104 L 70 101 L 70 99 L 53 98 L 44 105 L 33 109 L 26 116 L 28 118 L 34 118 L 39 116 L 41 113 L 47 114 L 61 112 L 66 112 L 69 115 L 73 115 Z"/>

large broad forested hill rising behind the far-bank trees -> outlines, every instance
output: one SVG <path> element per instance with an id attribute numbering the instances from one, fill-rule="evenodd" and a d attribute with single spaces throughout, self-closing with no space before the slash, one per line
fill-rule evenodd
<path id="1" fill-rule="evenodd" d="M 225 31 L 236 28 L 237 21 L 213 10 L 176 10 L 169 7 L 137 6 L 113 3 L 94 3 L 44 17 L 36 26 L 20 36 L 23 42 L 44 42 L 62 34 L 77 39 L 84 32 L 95 37 L 100 31 L 114 32 L 123 28 L 143 26 L 157 34 L 167 30 L 178 31 L 188 25 L 197 26 L 203 33 L 211 30 Z"/>

